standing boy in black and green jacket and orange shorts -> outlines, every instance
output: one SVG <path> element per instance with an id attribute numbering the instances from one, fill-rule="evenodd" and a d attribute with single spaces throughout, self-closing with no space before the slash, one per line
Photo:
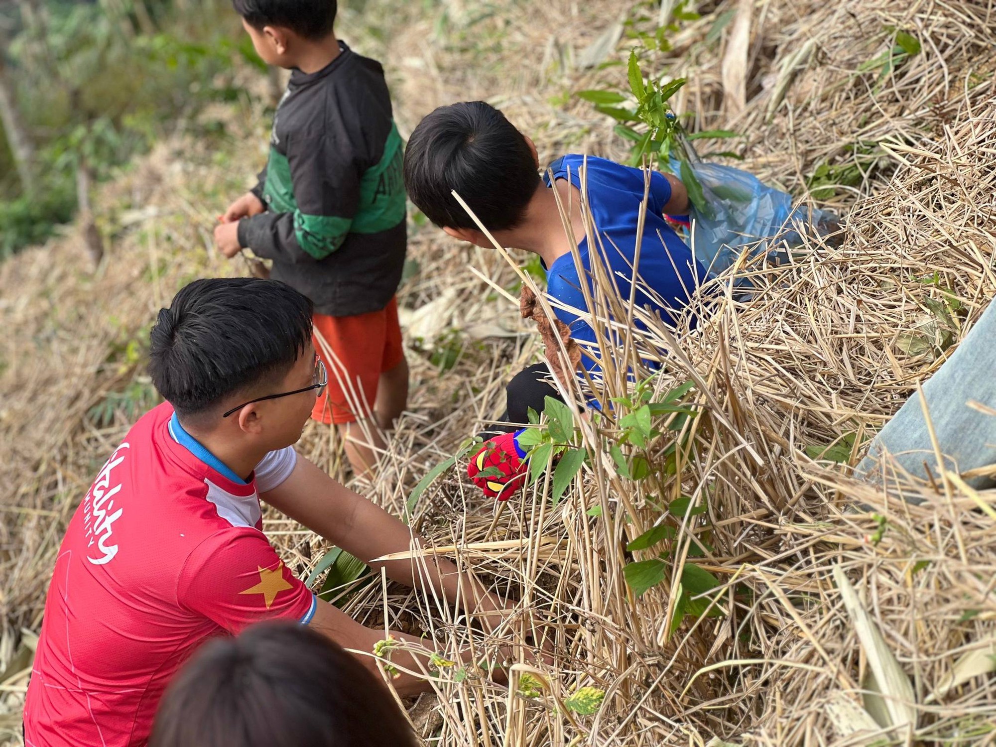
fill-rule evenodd
<path id="1" fill-rule="evenodd" d="M 329 386 L 312 417 L 336 423 L 367 472 L 404 409 L 408 369 L 394 293 L 405 253 L 402 145 L 383 69 L 333 31 L 336 0 L 233 0 L 259 56 L 292 70 L 259 183 L 215 241 L 273 260 L 271 277 L 315 306 Z M 358 425 L 358 421 L 366 421 Z"/>

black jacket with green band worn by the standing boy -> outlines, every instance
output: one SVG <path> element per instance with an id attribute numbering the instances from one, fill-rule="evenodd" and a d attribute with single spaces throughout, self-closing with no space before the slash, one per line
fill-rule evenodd
<path id="1" fill-rule="evenodd" d="M 402 145 L 383 69 L 340 44 L 323 70 L 291 75 L 252 190 L 267 210 L 239 222 L 239 243 L 272 259 L 270 276 L 317 314 L 346 317 L 387 305 L 406 237 Z"/>

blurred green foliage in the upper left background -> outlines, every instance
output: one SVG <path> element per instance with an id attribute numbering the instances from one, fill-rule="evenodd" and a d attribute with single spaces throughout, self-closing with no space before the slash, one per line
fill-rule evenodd
<path id="1" fill-rule="evenodd" d="M 22 0 L 0 5 L 0 54 L 35 188 L 0 127 L 0 258 L 44 241 L 77 207 L 76 169 L 107 178 L 178 122 L 265 70 L 227 0 Z"/>

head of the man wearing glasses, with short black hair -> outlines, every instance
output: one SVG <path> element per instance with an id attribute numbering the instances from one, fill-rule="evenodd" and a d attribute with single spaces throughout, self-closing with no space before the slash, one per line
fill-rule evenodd
<path id="1" fill-rule="evenodd" d="M 311 336 L 311 302 L 289 285 L 196 280 L 159 311 L 149 373 L 215 456 L 258 459 L 297 442 L 326 381 Z"/>

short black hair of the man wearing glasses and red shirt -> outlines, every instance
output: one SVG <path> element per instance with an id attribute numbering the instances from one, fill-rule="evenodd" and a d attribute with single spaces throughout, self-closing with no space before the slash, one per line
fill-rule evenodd
<path id="1" fill-rule="evenodd" d="M 229 394 L 286 375 L 311 335 L 312 303 L 289 285 L 195 280 L 159 310 L 148 370 L 178 415 L 196 415 Z"/>

